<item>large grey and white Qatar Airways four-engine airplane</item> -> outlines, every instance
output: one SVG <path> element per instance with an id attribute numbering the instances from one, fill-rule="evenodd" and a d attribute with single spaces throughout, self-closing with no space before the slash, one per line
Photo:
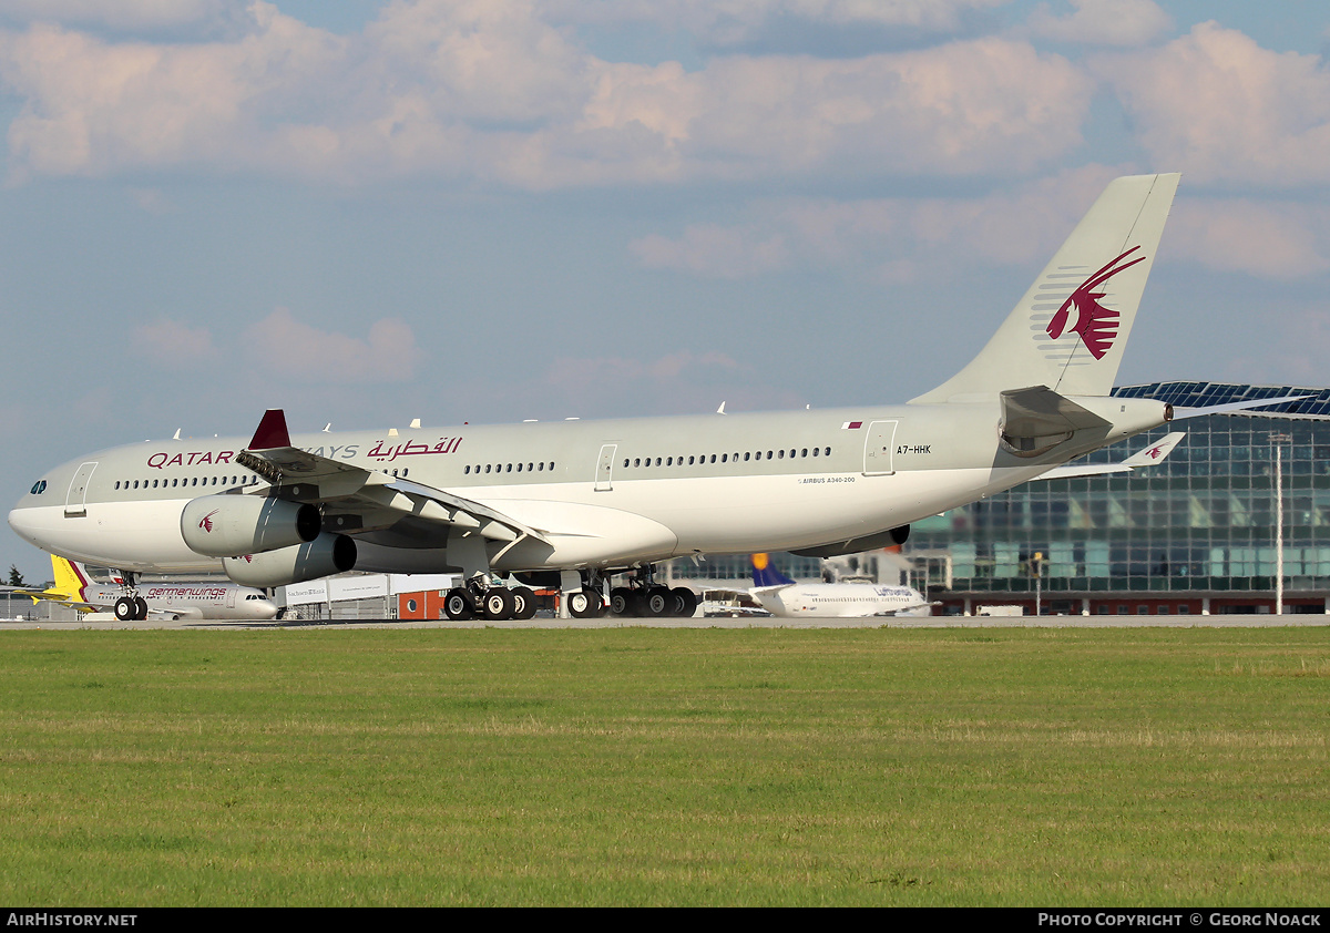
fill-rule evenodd
<path id="1" fill-rule="evenodd" d="M 1169 421 L 1170 405 L 1109 389 L 1177 182 L 1111 182 L 979 355 L 903 405 L 294 437 L 271 409 L 249 441 L 140 443 L 56 466 L 9 524 L 125 574 L 221 568 L 267 587 L 462 573 L 450 618 L 512 617 L 528 597 L 497 582 L 509 573 L 559 585 L 575 617 L 601 611 L 612 574 L 648 611 L 681 611 L 657 561 L 882 548 Z"/>

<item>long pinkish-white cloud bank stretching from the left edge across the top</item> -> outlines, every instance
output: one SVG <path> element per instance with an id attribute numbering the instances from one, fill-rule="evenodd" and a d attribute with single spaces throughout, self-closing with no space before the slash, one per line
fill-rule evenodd
<path id="1" fill-rule="evenodd" d="M 0 33 L 23 101 L 11 171 L 251 171 L 363 183 L 476 178 L 532 189 L 790 173 L 1028 171 L 1080 142 L 1091 80 L 980 39 L 819 60 L 606 62 L 535 0 L 387 7 L 344 39 L 254 3 L 235 40 Z"/>

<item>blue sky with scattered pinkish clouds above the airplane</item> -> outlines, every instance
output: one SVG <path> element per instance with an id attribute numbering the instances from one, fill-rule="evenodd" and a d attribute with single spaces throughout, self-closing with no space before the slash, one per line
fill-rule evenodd
<path id="1" fill-rule="evenodd" d="M 270 407 L 904 401 L 1148 171 L 1119 384 L 1330 384 L 1323 3 L 0 0 L 0 125 L 11 502 Z"/>

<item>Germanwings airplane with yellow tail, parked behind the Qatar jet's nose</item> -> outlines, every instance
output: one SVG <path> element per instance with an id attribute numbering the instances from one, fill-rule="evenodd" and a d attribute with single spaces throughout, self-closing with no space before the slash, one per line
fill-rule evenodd
<path id="1" fill-rule="evenodd" d="M 129 595 L 125 586 L 97 583 L 81 564 L 57 554 L 51 556 L 51 569 L 55 573 L 51 589 L 15 587 L 12 593 L 29 597 L 33 602 L 59 602 L 81 613 L 113 611 L 122 622 L 149 615 L 173 619 L 277 618 L 277 603 L 251 586 L 214 581 L 153 582 L 140 586 L 137 595 Z"/>

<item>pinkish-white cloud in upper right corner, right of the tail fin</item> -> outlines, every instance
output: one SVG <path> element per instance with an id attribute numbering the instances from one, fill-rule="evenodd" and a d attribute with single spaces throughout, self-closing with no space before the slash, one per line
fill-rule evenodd
<path id="1" fill-rule="evenodd" d="M 1245 186 L 1330 181 L 1330 70 L 1321 56 L 1273 52 L 1216 23 L 1162 48 L 1104 54 L 1160 170 Z"/>

